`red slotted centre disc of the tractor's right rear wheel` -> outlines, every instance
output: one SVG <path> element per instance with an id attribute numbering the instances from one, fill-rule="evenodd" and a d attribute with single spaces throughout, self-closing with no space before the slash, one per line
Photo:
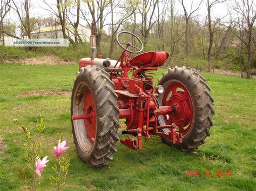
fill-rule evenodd
<path id="1" fill-rule="evenodd" d="M 180 82 L 171 83 L 163 95 L 162 105 L 171 105 L 173 112 L 164 116 L 166 124 L 175 123 L 177 131 L 185 136 L 193 121 L 193 102 L 187 88 Z"/>

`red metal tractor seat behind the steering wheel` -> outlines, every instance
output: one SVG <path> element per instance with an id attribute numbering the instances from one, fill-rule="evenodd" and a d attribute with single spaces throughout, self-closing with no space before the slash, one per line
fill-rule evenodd
<path id="1" fill-rule="evenodd" d="M 165 60 L 169 57 L 169 53 L 165 51 L 151 51 L 145 52 L 135 56 L 130 64 L 137 67 L 152 67 L 161 66 Z"/>

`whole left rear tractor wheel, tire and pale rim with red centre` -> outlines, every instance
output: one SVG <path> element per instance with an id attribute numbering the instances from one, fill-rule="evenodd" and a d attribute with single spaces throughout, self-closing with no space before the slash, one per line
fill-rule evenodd
<path id="1" fill-rule="evenodd" d="M 72 133 L 79 157 L 90 167 L 101 167 L 116 152 L 120 126 L 118 96 L 104 69 L 80 68 L 71 96 L 71 116 L 92 114 L 89 119 L 72 120 Z"/>

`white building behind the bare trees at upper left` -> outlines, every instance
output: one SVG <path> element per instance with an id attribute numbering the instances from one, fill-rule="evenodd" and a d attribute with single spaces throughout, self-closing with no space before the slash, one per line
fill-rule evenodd
<path id="1" fill-rule="evenodd" d="M 75 36 L 74 36 L 74 28 L 71 25 L 66 26 L 66 34 L 75 41 Z M 49 27 L 44 27 L 41 29 L 38 29 L 36 31 L 33 31 L 30 33 L 31 38 L 63 38 L 63 33 L 62 33 L 62 27 L 61 25 L 56 25 L 56 26 L 49 26 Z M 82 38 L 83 41 L 89 42 L 90 41 L 90 35 L 91 35 L 91 29 L 89 29 L 86 26 L 83 25 L 78 25 L 78 34 Z"/>

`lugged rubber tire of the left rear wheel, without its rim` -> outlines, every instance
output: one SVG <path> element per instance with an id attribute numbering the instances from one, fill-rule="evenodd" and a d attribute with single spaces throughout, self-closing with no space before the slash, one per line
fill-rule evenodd
<path id="1" fill-rule="evenodd" d="M 109 74 L 103 68 L 97 66 L 86 66 L 80 69 L 77 73 L 77 79 L 92 79 L 90 86 L 95 93 L 95 107 L 97 112 L 97 134 L 95 146 L 92 149 L 92 154 L 89 158 L 79 157 L 90 167 L 101 167 L 106 165 L 109 160 L 112 160 L 113 152 L 116 152 L 116 143 L 118 140 L 118 128 L 120 126 L 118 120 L 119 109 L 117 107 L 117 95 L 113 91 L 113 82 L 109 79 Z M 75 80 L 76 83 L 76 80 Z M 75 87 L 75 86 L 74 86 Z M 100 97 L 104 97 L 100 100 Z M 71 105 L 72 108 L 72 105 Z M 106 112 L 104 112 L 106 111 Z M 72 124 L 73 125 L 73 124 Z M 75 138 L 75 134 L 74 134 Z M 76 143 L 77 147 L 79 145 Z"/>

